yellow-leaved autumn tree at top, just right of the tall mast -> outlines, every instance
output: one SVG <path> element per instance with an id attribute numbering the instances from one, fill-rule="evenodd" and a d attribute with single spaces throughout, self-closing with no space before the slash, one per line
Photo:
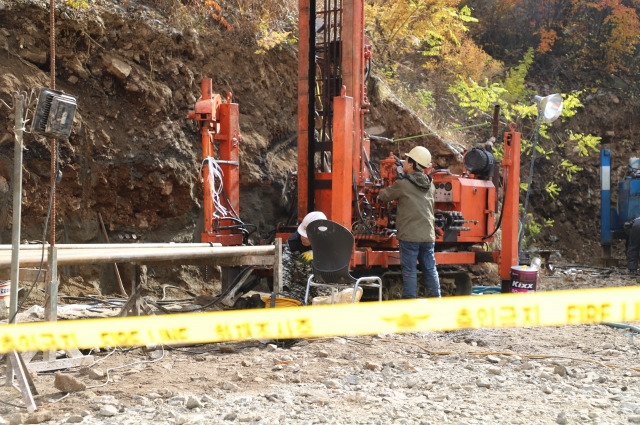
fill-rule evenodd
<path id="1" fill-rule="evenodd" d="M 481 79 L 501 68 L 470 38 L 477 20 L 460 0 L 369 0 L 365 23 L 379 72 L 434 101 L 460 75 Z"/>

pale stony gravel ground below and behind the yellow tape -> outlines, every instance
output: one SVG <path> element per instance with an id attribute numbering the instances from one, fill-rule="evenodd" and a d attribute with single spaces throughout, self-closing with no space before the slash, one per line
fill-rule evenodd
<path id="1" fill-rule="evenodd" d="M 540 288 L 636 283 L 577 275 Z M 0 424 L 640 423 L 640 338 L 611 325 L 91 354 L 90 367 L 35 374 L 38 410 L 0 404 Z M 24 405 L 8 386 L 0 399 Z"/>

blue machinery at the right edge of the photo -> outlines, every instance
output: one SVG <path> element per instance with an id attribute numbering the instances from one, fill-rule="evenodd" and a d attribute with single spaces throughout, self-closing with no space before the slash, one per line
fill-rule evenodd
<path id="1" fill-rule="evenodd" d="M 614 239 L 625 240 L 624 224 L 640 216 L 640 158 L 629 159 L 629 169 L 618 183 L 617 208 L 611 205 L 611 150 L 600 151 L 600 243 L 604 260 L 611 258 Z"/>

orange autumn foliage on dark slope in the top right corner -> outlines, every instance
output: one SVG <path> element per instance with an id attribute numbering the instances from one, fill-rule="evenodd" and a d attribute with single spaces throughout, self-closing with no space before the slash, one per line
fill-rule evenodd
<path id="1" fill-rule="evenodd" d="M 538 66 L 575 79 L 582 70 L 640 71 L 638 0 L 469 0 L 475 40 L 507 63 L 533 47 Z M 553 78 L 553 77 L 552 77 Z"/>

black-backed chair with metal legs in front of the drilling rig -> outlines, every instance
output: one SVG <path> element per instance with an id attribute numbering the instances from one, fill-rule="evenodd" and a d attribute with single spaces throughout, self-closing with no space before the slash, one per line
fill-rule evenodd
<path id="1" fill-rule="evenodd" d="M 353 277 L 349 262 L 353 251 L 353 235 L 346 227 L 331 220 L 316 220 L 307 227 L 307 237 L 313 250 L 313 274 L 307 280 L 304 303 L 307 305 L 309 289 L 320 286 L 331 289 L 331 304 L 339 290 L 353 288 L 351 302 L 355 302 L 361 286 L 378 288 L 378 301 L 382 301 L 382 279 L 378 276 Z"/>

